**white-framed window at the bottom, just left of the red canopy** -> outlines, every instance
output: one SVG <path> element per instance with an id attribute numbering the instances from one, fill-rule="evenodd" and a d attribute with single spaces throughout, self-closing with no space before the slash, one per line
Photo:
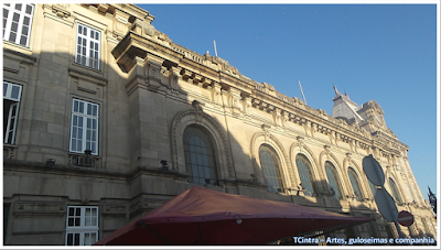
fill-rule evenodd
<path id="1" fill-rule="evenodd" d="M 68 206 L 66 246 L 90 246 L 98 241 L 98 207 Z"/>

